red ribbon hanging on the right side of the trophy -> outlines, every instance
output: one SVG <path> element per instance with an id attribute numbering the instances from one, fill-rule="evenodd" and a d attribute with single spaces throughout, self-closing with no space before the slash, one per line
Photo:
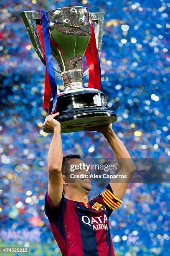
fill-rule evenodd
<path id="1" fill-rule="evenodd" d="M 93 20 L 91 20 L 91 38 L 86 48 L 85 55 L 89 67 L 89 85 L 88 88 L 101 90 L 101 71 L 100 61 L 96 46 L 96 37 L 94 33 Z"/>

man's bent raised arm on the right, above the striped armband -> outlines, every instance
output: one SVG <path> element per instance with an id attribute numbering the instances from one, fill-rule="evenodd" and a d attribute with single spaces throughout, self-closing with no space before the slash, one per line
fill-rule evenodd
<path id="1" fill-rule="evenodd" d="M 117 175 L 127 175 L 126 179 L 117 178 L 110 181 L 110 186 L 112 187 L 114 195 L 121 200 L 124 196 L 124 193 L 126 192 L 130 179 L 136 171 L 135 165 L 129 152 L 127 151 L 127 148 L 118 138 L 116 133 L 114 133 L 112 124 L 91 128 L 88 129 L 88 131 L 94 131 L 94 129 L 95 131 L 103 133 L 110 146 L 112 147 L 119 164 L 119 172 Z"/>

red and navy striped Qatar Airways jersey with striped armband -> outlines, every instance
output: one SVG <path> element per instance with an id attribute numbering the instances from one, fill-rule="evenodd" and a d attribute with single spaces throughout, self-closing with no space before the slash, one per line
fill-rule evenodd
<path id="1" fill-rule="evenodd" d="M 54 206 L 47 192 L 45 214 L 62 255 L 114 256 L 108 219 L 121 204 L 109 184 L 87 204 L 62 195 L 61 202 Z"/>

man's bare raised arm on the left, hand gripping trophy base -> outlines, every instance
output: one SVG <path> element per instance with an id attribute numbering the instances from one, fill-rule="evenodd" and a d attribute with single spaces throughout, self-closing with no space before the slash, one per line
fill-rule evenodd
<path id="1" fill-rule="evenodd" d="M 61 125 L 54 119 L 57 115 L 59 113 L 48 115 L 43 124 L 43 128 L 53 132 L 47 156 L 48 195 L 53 205 L 57 205 L 60 202 L 63 192 Z"/>

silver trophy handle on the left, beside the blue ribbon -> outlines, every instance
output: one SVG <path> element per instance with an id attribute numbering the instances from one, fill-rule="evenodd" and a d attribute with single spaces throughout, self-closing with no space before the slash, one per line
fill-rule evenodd
<path id="1" fill-rule="evenodd" d="M 23 22 L 25 23 L 25 26 L 27 28 L 28 34 L 30 36 L 30 40 L 34 46 L 34 49 L 36 50 L 36 53 L 38 54 L 39 58 L 43 62 L 43 64 L 46 66 L 46 62 L 43 59 L 43 49 L 40 43 L 40 40 L 38 38 L 36 28 L 34 26 L 33 20 L 40 20 L 40 12 L 21 12 L 20 13 Z M 61 76 L 61 72 L 54 67 L 54 72 Z"/>

